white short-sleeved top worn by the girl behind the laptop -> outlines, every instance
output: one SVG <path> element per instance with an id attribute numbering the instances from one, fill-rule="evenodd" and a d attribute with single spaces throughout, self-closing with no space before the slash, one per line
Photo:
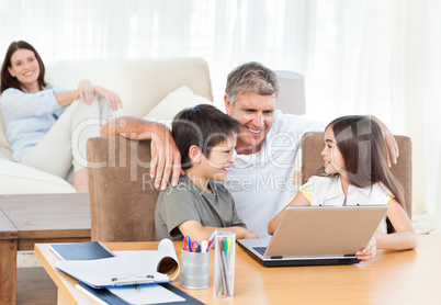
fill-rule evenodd
<path id="1" fill-rule="evenodd" d="M 344 193 L 338 174 L 332 178 L 313 176 L 302 185 L 301 192 L 310 205 L 388 204 L 394 197 L 383 183 L 375 183 L 368 188 L 349 185 L 344 202 Z M 387 234 L 386 216 L 383 217 L 378 230 Z"/>

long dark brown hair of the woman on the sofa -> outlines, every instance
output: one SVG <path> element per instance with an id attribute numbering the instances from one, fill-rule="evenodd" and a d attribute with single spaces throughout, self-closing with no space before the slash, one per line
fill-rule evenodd
<path id="1" fill-rule="evenodd" d="M 3 92 L 4 90 L 7 90 L 9 88 L 15 88 L 18 90 L 23 91 L 22 84 L 20 83 L 20 81 L 15 77 L 11 76 L 11 74 L 8 71 L 8 67 L 12 68 L 12 66 L 11 66 L 12 54 L 14 54 L 15 50 L 21 49 L 21 48 L 32 50 L 35 54 L 35 58 L 37 59 L 38 66 L 39 66 L 39 75 L 38 75 L 38 79 L 37 79 L 39 89 L 43 89 L 46 86 L 46 82 L 44 81 L 45 68 L 44 68 L 42 58 L 39 57 L 38 53 L 32 45 L 30 45 L 26 42 L 20 41 L 20 42 L 11 43 L 11 45 L 9 46 L 9 48 L 7 50 L 7 55 L 4 56 L 3 66 L 1 67 L 0 92 Z"/>

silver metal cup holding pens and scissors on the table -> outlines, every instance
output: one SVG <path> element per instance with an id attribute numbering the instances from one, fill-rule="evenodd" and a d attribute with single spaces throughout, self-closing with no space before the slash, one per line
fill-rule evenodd
<path id="1" fill-rule="evenodd" d="M 211 252 L 189 252 L 182 249 L 181 286 L 206 289 L 210 286 Z"/>

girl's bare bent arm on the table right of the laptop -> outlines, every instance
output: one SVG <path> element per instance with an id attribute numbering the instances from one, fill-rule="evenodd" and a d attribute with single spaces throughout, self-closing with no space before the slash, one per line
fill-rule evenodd
<path id="1" fill-rule="evenodd" d="M 403 206 L 395 200 L 388 203 L 387 217 L 395 228 L 395 233 L 376 233 L 376 247 L 378 249 L 406 250 L 417 247 L 417 235 L 409 217 Z"/>

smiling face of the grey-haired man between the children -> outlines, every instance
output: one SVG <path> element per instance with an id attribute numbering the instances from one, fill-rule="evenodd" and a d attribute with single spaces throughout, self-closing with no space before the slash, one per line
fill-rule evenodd
<path id="1" fill-rule="evenodd" d="M 275 98 L 244 93 L 239 94 L 234 105 L 228 95 L 225 95 L 224 101 L 228 115 L 244 125 L 237 139 L 237 154 L 249 155 L 259 151 L 274 118 Z"/>

